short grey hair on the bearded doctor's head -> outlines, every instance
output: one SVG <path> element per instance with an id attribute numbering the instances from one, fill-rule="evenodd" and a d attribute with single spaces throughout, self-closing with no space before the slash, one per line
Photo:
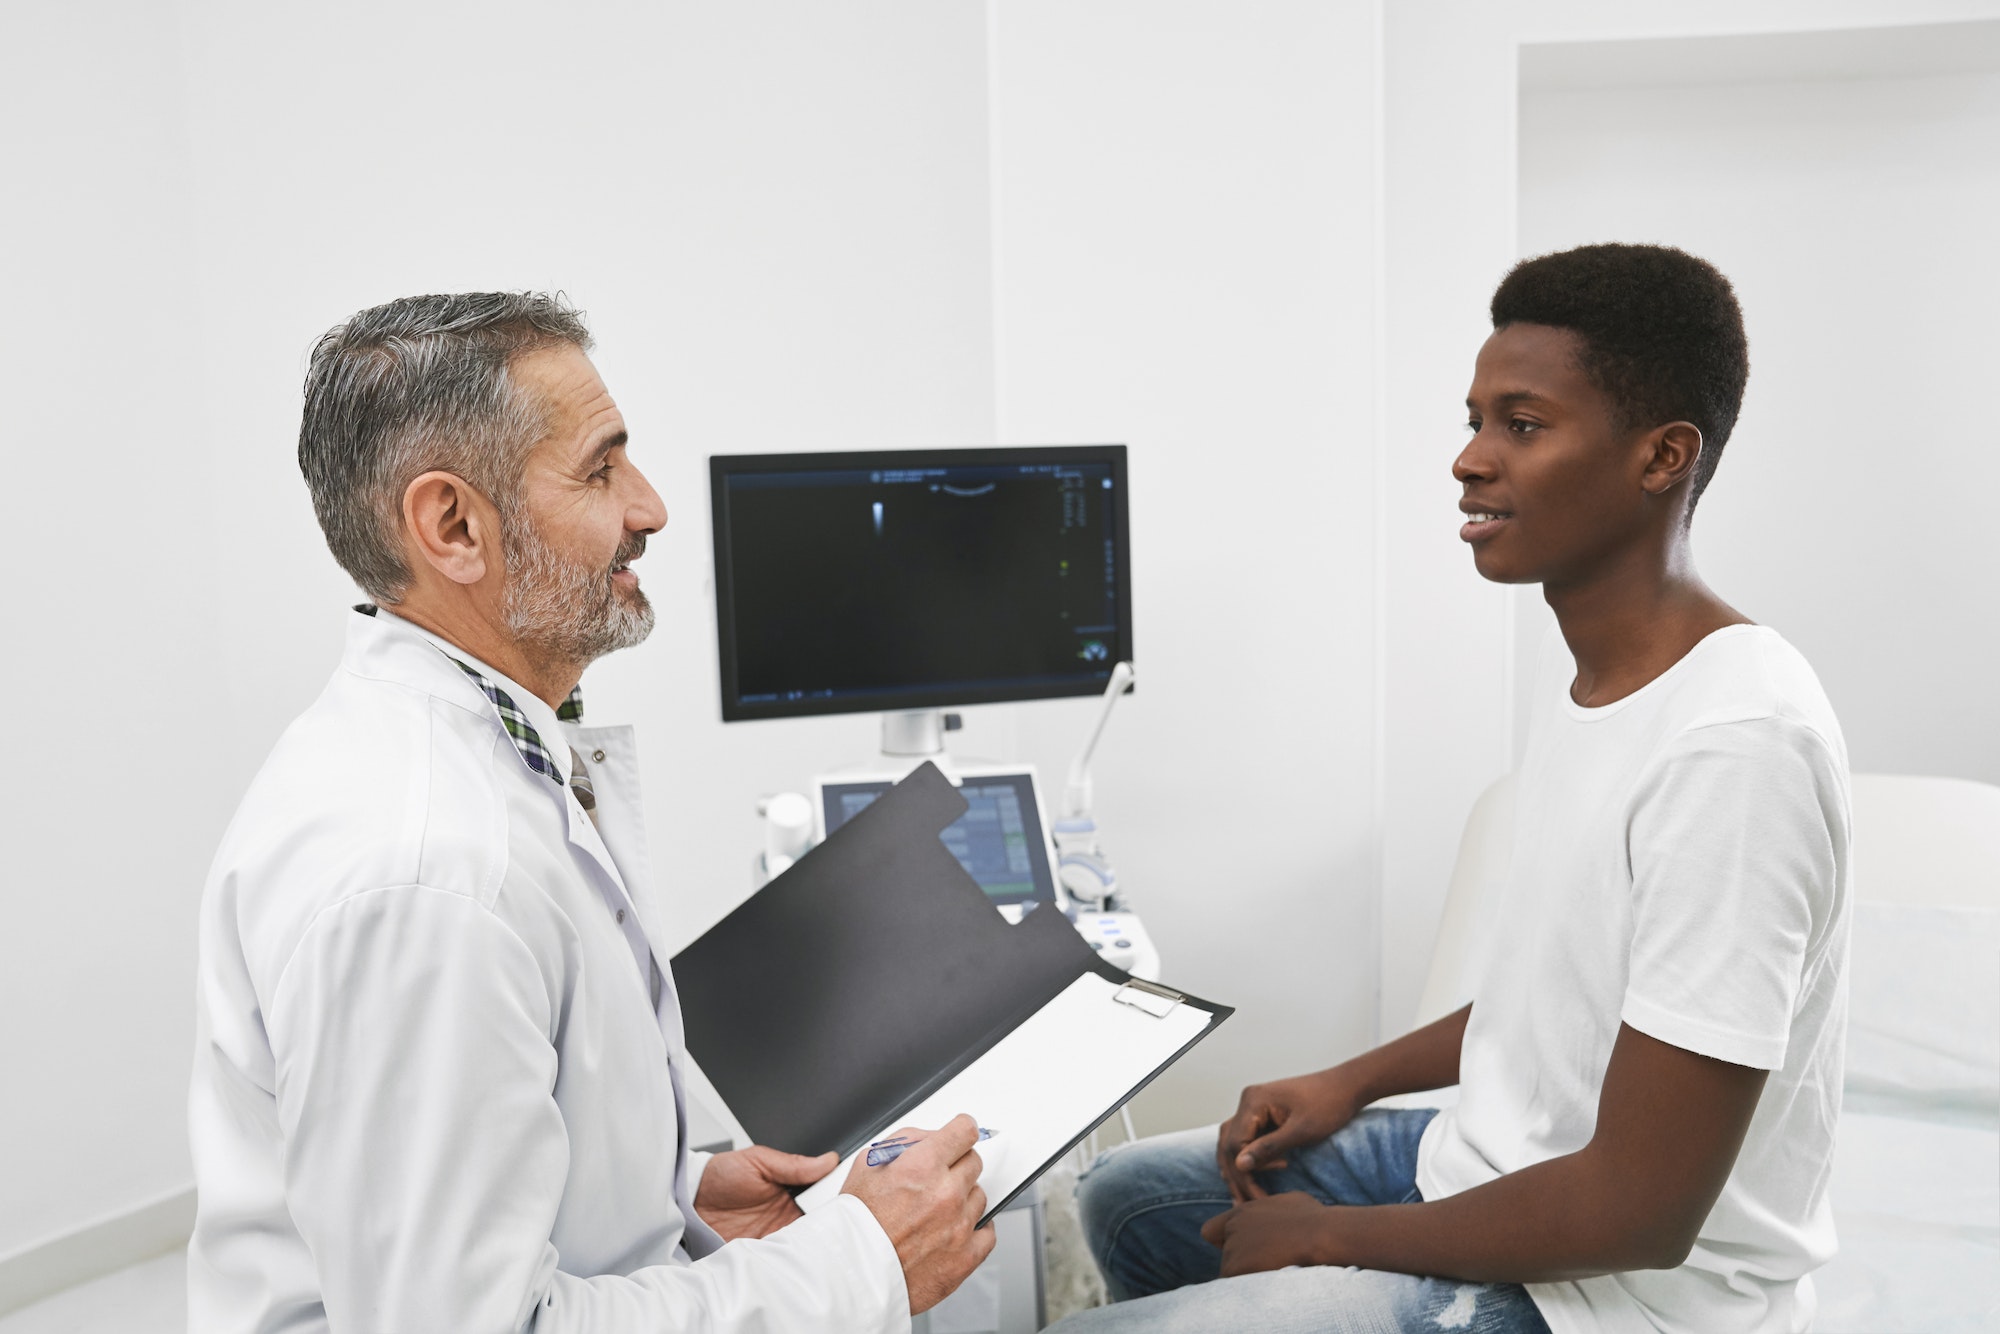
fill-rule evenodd
<path id="1" fill-rule="evenodd" d="M 508 366 L 564 342 L 590 350 L 560 292 L 460 292 L 362 310 L 312 348 L 298 470 L 328 550 L 370 598 L 410 590 L 402 494 L 422 474 L 452 472 L 514 512 L 548 420 Z"/>

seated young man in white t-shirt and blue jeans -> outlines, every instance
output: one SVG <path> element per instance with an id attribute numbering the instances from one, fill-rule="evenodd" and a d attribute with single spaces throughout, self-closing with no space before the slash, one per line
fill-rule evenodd
<path id="1" fill-rule="evenodd" d="M 1542 584 L 1514 858 L 1472 1004 L 1244 1090 L 1080 1188 L 1116 1306 L 1066 1330 L 1804 1330 L 1846 1026 L 1848 760 L 1812 668 L 1688 522 L 1748 378 L 1680 250 L 1528 260 L 1492 300 L 1460 536 Z M 1460 1086 L 1454 1108 L 1368 1108 Z M 1298 1266 L 1298 1268 L 1292 1268 Z"/>

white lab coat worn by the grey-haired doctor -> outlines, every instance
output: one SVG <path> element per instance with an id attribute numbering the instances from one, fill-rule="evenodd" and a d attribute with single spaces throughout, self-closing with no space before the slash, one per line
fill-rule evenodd
<path id="1" fill-rule="evenodd" d="M 852 1196 L 728 1246 L 696 1218 L 630 728 L 558 724 L 488 676 L 564 768 L 562 740 L 592 756 L 596 826 L 382 614 L 350 618 L 222 840 L 190 1330 L 904 1334 L 896 1252 Z"/>

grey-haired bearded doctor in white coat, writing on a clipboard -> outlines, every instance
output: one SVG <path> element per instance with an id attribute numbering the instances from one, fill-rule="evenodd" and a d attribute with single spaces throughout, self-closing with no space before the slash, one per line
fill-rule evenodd
<path id="1" fill-rule="evenodd" d="M 908 1330 L 992 1250 L 958 1118 L 836 1204 L 834 1156 L 686 1146 L 628 728 L 666 510 L 560 298 L 326 334 L 298 458 L 348 616 L 202 896 L 190 1328 Z"/>

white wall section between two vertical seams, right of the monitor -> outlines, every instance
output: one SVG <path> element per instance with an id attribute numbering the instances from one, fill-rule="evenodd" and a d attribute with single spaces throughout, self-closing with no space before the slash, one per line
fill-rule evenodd
<path id="1" fill-rule="evenodd" d="M 1238 1006 L 1138 1104 L 1192 1126 L 1374 1034 L 1374 6 L 994 8 L 1000 428 L 1132 450 L 1098 816 L 1164 976 Z"/>

